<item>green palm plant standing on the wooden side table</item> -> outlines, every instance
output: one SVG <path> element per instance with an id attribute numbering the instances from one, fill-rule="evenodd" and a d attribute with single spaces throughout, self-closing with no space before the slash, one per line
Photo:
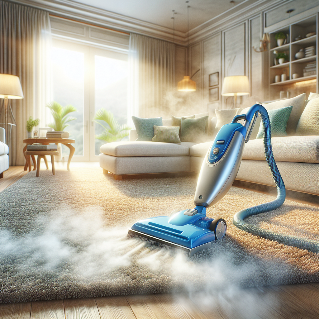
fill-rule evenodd
<path id="1" fill-rule="evenodd" d="M 47 104 L 47 108 L 50 109 L 51 115 L 53 116 L 53 122 L 48 124 L 55 131 L 63 131 L 69 124 L 70 121 L 76 120 L 75 117 L 68 116 L 71 112 L 76 112 L 77 109 L 73 105 L 62 106 L 60 103 L 53 101 Z M 58 156 L 54 156 L 54 159 L 58 162 L 62 159 L 62 145 L 59 143 L 57 147 L 59 152 Z"/>

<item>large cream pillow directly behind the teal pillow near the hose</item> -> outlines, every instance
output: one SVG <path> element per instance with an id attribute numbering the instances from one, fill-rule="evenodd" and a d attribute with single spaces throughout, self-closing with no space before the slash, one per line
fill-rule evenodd
<path id="1" fill-rule="evenodd" d="M 298 121 L 300 119 L 302 111 L 305 108 L 305 99 L 306 93 L 302 93 L 291 99 L 275 101 L 272 103 L 257 102 L 257 104 L 261 104 L 266 110 L 273 110 L 277 108 L 286 108 L 287 106 L 292 106 L 293 109 L 289 116 L 286 132 L 288 136 L 294 136 L 296 133 Z"/>

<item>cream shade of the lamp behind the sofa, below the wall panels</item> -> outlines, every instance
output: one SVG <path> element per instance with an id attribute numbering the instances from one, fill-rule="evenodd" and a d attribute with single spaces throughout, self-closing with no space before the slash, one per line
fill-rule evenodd
<path id="1" fill-rule="evenodd" d="M 249 92 L 249 80 L 245 75 L 235 75 L 224 78 L 221 95 L 249 95 Z"/>

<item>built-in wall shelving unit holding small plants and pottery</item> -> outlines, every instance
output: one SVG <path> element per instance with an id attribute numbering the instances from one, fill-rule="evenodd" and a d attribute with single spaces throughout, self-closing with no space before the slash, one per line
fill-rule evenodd
<path id="1" fill-rule="evenodd" d="M 275 39 L 275 35 L 278 32 L 283 32 L 287 35 L 283 45 L 278 46 Z M 315 32 L 315 35 L 306 37 L 310 32 Z M 301 37 L 301 39 L 298 39 Z M 296 40 L 297 39 L 297 40 Z M 278 30 L 273 30 L 270 32 L 270 52 L 269 52 L 269 79 L 270 79 L 270 97 L 271 99 L 278 98 L 280 91 L 291 91 L 295 93 L 295 85 L 305 87 L 309 86 L 309 92 L 316 92 L 316 81 L 318 81 L 318 14 L 315 14 L 306 19 L 296 21 L 288 26 L 283 26 Z M 305 49 L 308 47 L 315 47 L 315 54 L 312 56 L 297 59 L 295 57 L 296 53 L 300 49 Z M 277 52 L 285 52 L 288 56 L 288 61 L 279 64 L 278 60 L 275 60 Z M 304 69 L 309 63 L 315 62 L 316 64 L 316 74 L 303 76 Z M 293 74 L 297 73 L 298 77 L 293 78 Z M 281 77 L 282 74 L 286 74 L 286 81 L 275 82 L 276 75 Z M 306 82 L 307 81 L 307 82 Z M 303 82 L 303 83 L 302 83 Z"/>

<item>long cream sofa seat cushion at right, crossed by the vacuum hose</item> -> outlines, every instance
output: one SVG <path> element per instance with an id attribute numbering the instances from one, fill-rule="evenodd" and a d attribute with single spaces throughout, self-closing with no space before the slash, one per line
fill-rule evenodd
<path id="1" fill-rule="evenodd" d="M 276 161 L 319 163 L 319 136 L 272 137 L 271 144 Z M 249 140 L 242 159 L 266 160 L 263 139 Z"/>

